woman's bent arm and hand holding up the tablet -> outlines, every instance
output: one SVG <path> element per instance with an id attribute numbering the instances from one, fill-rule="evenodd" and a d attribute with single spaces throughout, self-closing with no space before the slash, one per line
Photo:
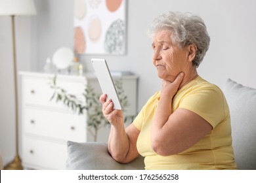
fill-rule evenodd
<path id="1" fill-rule="evenodd" d="M 123 112 L 113 109 L 111 100 L 106 100 L 106 94 L 100 96 L 102 112 L 111 124 L 108 150 L 119 163 L 128 163 L 139 156 L 137 151 L 137 138 L 140 131 L 131 124 L 126 129 L 123 123 Z"/>

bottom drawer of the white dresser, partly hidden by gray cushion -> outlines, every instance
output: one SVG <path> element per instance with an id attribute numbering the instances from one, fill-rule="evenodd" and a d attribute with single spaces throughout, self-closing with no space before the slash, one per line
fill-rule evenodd
<path id="1" fill-rule="evenodd" d="M 66 169 L 66 142 L 56 143 L 24 137 L 22 163 L 32 169 Z"/>

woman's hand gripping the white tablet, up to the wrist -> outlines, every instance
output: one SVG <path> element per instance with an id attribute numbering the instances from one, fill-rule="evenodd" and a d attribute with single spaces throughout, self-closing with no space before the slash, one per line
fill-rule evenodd
<path id="1" fill-rule="evenodd" d="M 117 124 L 123 123 L 123 112 L 122 110 L 114 109 L 114 103 L 111 99 L 106 99 L 107 95 L 100 95 L 100 103 L 102 103 L 102 112 L 105 118 L 110 124 L 116 126 Z"/>

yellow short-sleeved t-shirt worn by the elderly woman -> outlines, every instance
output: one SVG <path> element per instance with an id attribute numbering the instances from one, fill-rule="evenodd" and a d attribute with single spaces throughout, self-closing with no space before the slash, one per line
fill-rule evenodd
<path id="1" fill-rule="evenodd" d="M 159 99 L 160 92 L 150 97 L 133 122 L 140 130 L 137 149 L 145 157 L 145 169 L 236 169 L 228 104 L 217 86 L 198 76 L 173 98 L 173 111 L 191 110 L 213 130 L 191 148 L 172 156 L 160 156 L 151 148 L 151 124 Z"/>

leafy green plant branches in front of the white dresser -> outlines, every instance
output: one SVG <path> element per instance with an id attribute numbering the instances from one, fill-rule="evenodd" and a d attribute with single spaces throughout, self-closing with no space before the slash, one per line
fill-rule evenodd
<path id="1" fill-rule="evenodd" d="M 50 87 L 54 90 L 51 101 L 55 99 L 56 102 L 62 103 L 77 112 L 77 114 L 87 114 L 88 131 L 93 135 L 94 141 L 97 141 L 98 130 L 110 123 L 102 114 L 102 105 L 99 101 L 100 94 L 95 92 L 91 84 L 85 86 L 85 90 L 81 95 L 74 95 L 64 90 L 56 84 L 57 76 L 51 78 Z M 119 100 L 123 111 L 129 106 L 127 96 L 123 90 L 121 80 L 115 80 L 115 86 L 119 95 Z M 133 120 L 134 116 L 125 116 L 125 122 Z"/>

